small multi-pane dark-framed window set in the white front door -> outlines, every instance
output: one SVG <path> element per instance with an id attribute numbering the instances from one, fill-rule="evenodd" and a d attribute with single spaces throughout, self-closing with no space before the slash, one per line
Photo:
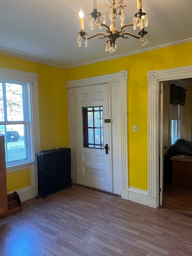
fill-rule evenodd
<path id="1" fill-rule="evenodd" d="M 84 107 L 83 147 L 103 149 L 103 107 Z"/>

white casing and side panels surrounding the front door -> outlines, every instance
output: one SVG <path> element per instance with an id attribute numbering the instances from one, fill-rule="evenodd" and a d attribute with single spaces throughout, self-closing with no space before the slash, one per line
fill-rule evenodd
<path id="1" fill-rule="evenodd" d="M 71 148 L 71 172 L 77 183 L 77 154 L 75 116 L 75 90 L 80 86 L 109 84 L 109 118 L 111 118 L 111 193 L 128 199 L 128 150 L 127 150 L 127 70 L 109 75 L 67 81 L 69 146 Z M 118 111 L 118 112 L 117 112 Z M 118 113 L 118 114 L 117 114 Z"/>

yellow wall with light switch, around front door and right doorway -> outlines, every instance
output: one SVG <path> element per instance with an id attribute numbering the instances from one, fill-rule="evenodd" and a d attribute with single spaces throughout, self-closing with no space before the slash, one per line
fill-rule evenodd
<path id="1" fill-rule="evenodd" d="M 184 43 L 119 59 L 68 69 L 66 80 L 128 70 L 129 186 L 147 190 L 147 71 L 192 64 L 192 43 Z M 137 125 L 137 133 L 133 133 Z"/>

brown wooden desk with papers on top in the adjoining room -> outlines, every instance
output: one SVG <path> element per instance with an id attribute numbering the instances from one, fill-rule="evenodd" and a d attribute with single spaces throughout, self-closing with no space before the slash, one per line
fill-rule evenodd
<path id="1" fill-rule="evenodd" d="M 176 157 L 178 155 L 175 155 Z M 192 191 L 192 156 L 170 159 L 172 163 L 172 187 Z"/>

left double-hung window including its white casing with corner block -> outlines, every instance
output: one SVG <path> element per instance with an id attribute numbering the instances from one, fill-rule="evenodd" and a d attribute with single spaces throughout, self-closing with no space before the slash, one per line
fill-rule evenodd
<path id="1" fill-rule="evenodd" d="M 37 83 L 30 78 L 31 73 L 1 68 L 0 135 L 5 136 L 6 167 L 34 162 L 40 149 Z"/>

